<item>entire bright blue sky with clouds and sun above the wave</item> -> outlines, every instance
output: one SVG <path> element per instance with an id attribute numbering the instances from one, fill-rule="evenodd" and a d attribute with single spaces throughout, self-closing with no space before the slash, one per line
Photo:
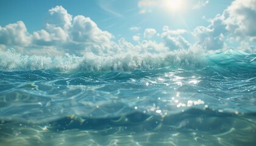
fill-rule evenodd
<path id="1" fill-rule="evenodd" d="M 0 51 L 83 55 L 256 52 L 256 0 L 2 0 Z"/>

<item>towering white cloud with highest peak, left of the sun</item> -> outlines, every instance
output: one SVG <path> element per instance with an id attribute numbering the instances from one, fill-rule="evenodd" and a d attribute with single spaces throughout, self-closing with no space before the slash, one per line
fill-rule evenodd
<path id="1" fill-rule="evenodd" d="M 72 18 L 62 6 L 56 6 L 49 12 L 59 23 L 48 23 L 46 30 L 34 32 L 37 45 L 56 46 L 71 54 L 114 52 L 111 49 L 112 34 L 99 29 L 90 18 L 82 15 Z"/>

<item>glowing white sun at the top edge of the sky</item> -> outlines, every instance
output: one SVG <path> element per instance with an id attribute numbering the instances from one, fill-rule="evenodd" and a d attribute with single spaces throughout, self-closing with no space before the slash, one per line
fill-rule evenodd
<path id="1" fill-rule="evenodd" d="M 163 7 L 169 11 L 178 11 L 182 9 L 182 1 L 181 0 L 163 0 Z"/>

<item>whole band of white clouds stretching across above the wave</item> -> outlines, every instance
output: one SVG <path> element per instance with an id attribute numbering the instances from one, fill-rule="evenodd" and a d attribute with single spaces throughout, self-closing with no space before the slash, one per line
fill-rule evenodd
<path id="1" fill-rule="evenodd" d="M 153 4 L 152 0 L 139 2 L 140 7 L 146 10 Z M 197 26 L 192 31 L 163 26 L 162 30 L 148 28 L 141 32 L 141 27 L 130 27 L 135 33 L 132 35 L 133 44 L 124 38 L 116 40 L 112 33 L 100 29 L 89 17 L 72 16 L 57 5 L 49 10 L 44 29 L 29 33 L 23 21 L 0 26 L 0 51 L 14 47 L 24 54 L 40 55 L 84 55 L 88 52 L 98 55 L 129 52 L 159 54 L 197 44 L 203 44 L 208 50 L 224 50 L 227 43 L 235 42 L 240 45 L 238 49 L 256 52 L 256 47 L 251 45 L 256 42 L 255 18 L 256 0 L 236 0 L 222 14 L 211 19 L 208 26 Z M 186 40 L 186 35 L 197 40 L 196 43 Z"/>

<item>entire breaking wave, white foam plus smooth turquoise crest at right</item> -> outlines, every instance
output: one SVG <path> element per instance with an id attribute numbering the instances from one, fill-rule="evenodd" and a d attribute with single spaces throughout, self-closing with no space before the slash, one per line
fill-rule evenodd
<path id="1" fill-rule="evenodd" d="M 0 69 L 4 71 L 53 69 L 55 71 L 134 71 L 136 69 L 158 69 L 168 66 L 195 69 L 208 65 L 228 68 L 254 69 L 256 54 L 240 50 L 204 54 L 191 49 L 174 50 L 167 54 L 116 54 L 82 57 L 65 54 L 54 58 L 40 55 L 22 55 L 11 50 L 0 53 Z"/>

